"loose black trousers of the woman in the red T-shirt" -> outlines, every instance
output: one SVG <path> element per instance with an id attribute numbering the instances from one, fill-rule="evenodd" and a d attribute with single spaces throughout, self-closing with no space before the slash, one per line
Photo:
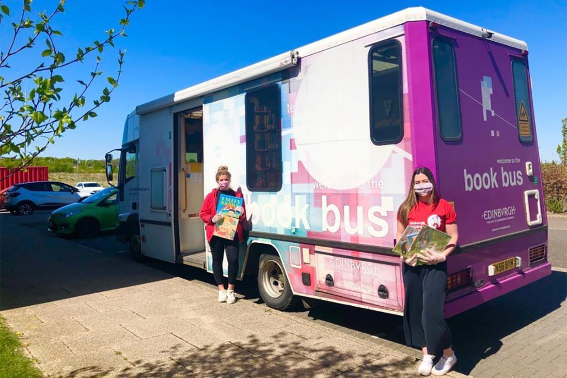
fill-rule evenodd
<path id="1" fill-rule="evenodd" d="M 447 262 L 403 265 L 405 343 L 418 348 L 426 346 L 428 354 L 441 355 L 452 346 L 451 331 L 445 321 Z"/>

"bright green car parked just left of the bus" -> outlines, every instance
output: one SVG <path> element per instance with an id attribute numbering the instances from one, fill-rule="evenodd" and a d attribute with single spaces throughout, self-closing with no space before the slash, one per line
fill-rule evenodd
<path id="1" fill-rule="evenodd" d="M 93 237 L 100 231 L 115 230 L 118 224 L 118 190 L 106 188 L 81 202 L 53 211 L 48 230 L 58 235 Z"/>

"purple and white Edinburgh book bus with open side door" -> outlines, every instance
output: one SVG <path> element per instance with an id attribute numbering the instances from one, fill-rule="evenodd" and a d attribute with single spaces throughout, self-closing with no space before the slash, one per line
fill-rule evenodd
<path id="1" fill-rule="evenodd" d="M 551 274 L 527 45 L 422 7 L 141 104 L 118 150 L 119 240 L 207 271 L 198 213 L 228 165 L 239 279 L 272 308 L 401 314 L 396 211 L 420 166 L 458 214 L 447 317 Z"/>

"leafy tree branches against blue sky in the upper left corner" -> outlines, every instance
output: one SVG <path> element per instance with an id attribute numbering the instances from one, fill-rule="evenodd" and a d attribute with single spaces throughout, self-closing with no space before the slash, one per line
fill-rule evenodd
<path id="1" fill-rule="evenodd" d="M 58 0 L 53 11 L 44 10 L 37 15 L 32 14 L 31 3 L 32 0 L 23 0 L 22 8 L 14 11 L 0 2 L 0 22 L 11 14 L 14 16 L 12 36 L 2 36 L 0 52 L 0 90 L 5 96 L 3 103 L 0 102 L 0 156 L 19 158 L 20 169 L 45 151 L 55 138 L 75 129 L 79 121 L 96 117 L 95 109 L 110 101 L 120 81 L 125 52 L 118 50 L 117 74 L 107 77 L 109 87 L 104 87 L 101 94 L 93 94 L 93 84 L 103 74 L 100 70 L 103 52 L 114 47 L 119 37 L 126 37 L 130 16 L 142 9 L 145 0 L 125 2 L 125 16 L 120 19 L 119 28 L 108 29 L 101 41 L 67 54 L 57 47 L 63 34 L 53 28 L 55 16 L 65 11 L 65 0 Z M 44 45 L 40 47 L 43 37 Z M 22 54 L 26 54 L 29 69 L 22 69 Z M 30 56 L 35 58 L 30 60 Z M 14 70 L 10 63 L 16 58 L 20 63 Z M 63 69 L 87 62 L 92 63 L 92 71 L 86 69 L 83 80 L 77 80 L 81 90 L 63 96 Z M 88 103 L 92 101 L 92 104 L 87 104 L 87 95 L 91 98 Z"/>

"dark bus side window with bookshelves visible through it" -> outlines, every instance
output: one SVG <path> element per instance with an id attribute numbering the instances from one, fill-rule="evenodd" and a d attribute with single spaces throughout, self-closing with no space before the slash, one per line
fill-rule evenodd
<path id="1" fill-rule="evenodd" d="M 248 92 L 246 104 L 246 184 L 253 192 L 282 187 L 280 87 Z"/>

